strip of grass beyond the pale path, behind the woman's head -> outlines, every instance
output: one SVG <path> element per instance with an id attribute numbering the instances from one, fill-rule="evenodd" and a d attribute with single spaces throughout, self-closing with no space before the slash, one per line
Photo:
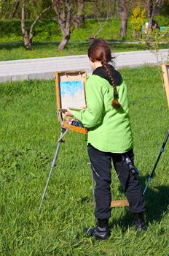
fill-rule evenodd
<path id="1" fill-rule="evenodd" d="M 64 50 L 58 50 L 58 42 L 35 42 L 32 50 L 25 50 L 22 43 L 0 45 L 0 60 L 34 59 L 87 54 L 90 42 L 69 42 Z M 165 47 L 166 48 L 166 47 Z M 111 43 L 112 52 L 145 50 L 144 45 Z"/>

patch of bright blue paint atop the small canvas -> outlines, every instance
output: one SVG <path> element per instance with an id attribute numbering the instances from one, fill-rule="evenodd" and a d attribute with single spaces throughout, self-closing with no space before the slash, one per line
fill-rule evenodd
<path id="1" fill-rule="evenodd" d="M 76 91 L 84 91 L 82 81 L 66 81 L 60 82 L 60 94 L 63 97 L 65 94 L 70 94 L 71 97 L 74 97 Z"/>

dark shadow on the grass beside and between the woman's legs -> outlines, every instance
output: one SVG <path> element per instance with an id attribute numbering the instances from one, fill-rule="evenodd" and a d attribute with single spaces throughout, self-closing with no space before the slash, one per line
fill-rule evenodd
<path id="1" fill-rule="evenodd" d="M 149 175 L 139 178 L 141 187 L 146 184 Z M 151 184 L 149 184 L 151 186 Z M 121 187 L 119 188 L 121 190 Z M 146 223 L 149 226 L 152 222 L 160 222 L 163 214 L 168 210 L 169 205 L 169 186 L 161 185 L 158 187 L 148 187 L 145 194 L 146 200 Z M 113 209 L 112 209 L 113 211 Z M 113 212 L 112 212 L 113 217 Z M 122 230 L 127 230 L 128 227 L 133 227 L 134 218 L 129 208 L 126 208 L 125 215 L 118 219 L 113 219 L 110 223 L 111 227 L 119 226 Z"/>

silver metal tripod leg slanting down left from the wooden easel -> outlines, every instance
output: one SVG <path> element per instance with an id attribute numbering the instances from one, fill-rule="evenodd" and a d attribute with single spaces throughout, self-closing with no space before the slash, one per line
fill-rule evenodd
<path id="1" fill-rule="evenodd" d="M 54 156 L 54 158 L 53 158 L 53 160 L 52 160 L 52 165 L 51 165 L 51 169 L 50 169 L 50 174 L 49 174 L 49 176 L 48 176 L 48 178 L 47 178 L 47 184 L 46 184 L 46 187 L 45 187 L 45 189 L 44 189 L 44 193 L 43 193 L 43 195 L 42 195 L 42 200 L 41 200 L 41 203 L 40 203 L 40 206 L 39 206 L 38 214 L 39 214 L 40 211 L 41 211 L 42 202 L 43 202 L 44 196 L 45 196 L 45 194 L 46 194 L 46 192 L 47 192 L 47 187 L 48 187 L 48 184 L 49 184 L 49 181 L 50 181 L 50 177 L 51 177 L 51 175 L 52 175 L 52 170 L 53 170 L 53 168 L 56 166 L 55 162 L 56 162 L 56 159 L 57 159 L 57 157 L 58 157 L 58 152 L 59 152 L 60 144 L 64 142 L 64 141 L 63 141 L 63 137 L 66 135 L 67 132 L 68 132 L 68 129 L 67 129 L 67 128 L 66 128 L 66 129 L 62 128 L 62 129 L 61 129 L 60 138 L 58 139 L 58 144 L 57 144 L 57 146 L 56 146 L 55 156 Z"/>

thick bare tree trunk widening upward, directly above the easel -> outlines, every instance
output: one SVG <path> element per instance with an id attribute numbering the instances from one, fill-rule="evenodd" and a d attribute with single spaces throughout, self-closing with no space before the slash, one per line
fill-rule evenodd
<path id="1" fill-rule="evenodd" d="M 52 4 L 58 15 L 58 23 L 63 34 L 58 50 L 63 50 L 71 35 L 71 0 L 52 0 Z"/>

